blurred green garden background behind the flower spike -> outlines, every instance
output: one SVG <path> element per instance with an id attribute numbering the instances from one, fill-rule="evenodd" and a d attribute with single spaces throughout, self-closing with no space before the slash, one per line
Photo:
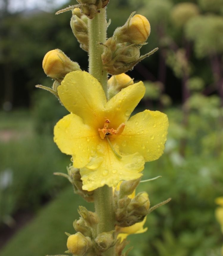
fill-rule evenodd
<path id="1" fill-rule="evenodd" d="M 0 256 L 63 253 L 78 205 L 93 209 L 53 176 L 70 163 L 52 133 L 67 111 L 34 87 L 52 85 L 42 60 L 55 48 L 87 70 L 71 13 L 54 15 L 76 2 L 28 3 L 0 2 Z M 172 201 L 147 217 L 145 234 L 129 236 L 129 255 L 220 255 L 214 200 L 223 195 L 223 0 L 110 0 L 108 36 L 133 10 L 151 24 L 141 53 L 159 47 L 128 72 L 146 86 L 136 111 L 161 110 L 170 123 L 164 155 L 144 170 L 144 179 L 162 178 L 141 183 L 139 191 L 148 192 L 152 205 Z"/>

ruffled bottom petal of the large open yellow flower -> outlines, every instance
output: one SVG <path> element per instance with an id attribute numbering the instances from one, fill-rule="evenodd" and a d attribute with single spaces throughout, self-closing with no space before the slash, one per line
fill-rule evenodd
<path id="1" fill-rule="evenodd" d="M 114 187 L 122 180 L 134 180 L 142 176 L 139 172 L 143 170 L 145 162 L 139 153 L 118 153 L 121 159 L 117 158 L 106 141 L 103 143 L 102 150 L 80 169 L 84 190 L 92 191 L 104 185 Z"/>

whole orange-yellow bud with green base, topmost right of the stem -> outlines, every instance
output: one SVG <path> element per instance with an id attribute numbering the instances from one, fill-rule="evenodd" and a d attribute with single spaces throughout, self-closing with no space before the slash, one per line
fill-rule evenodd
<path id="1" fill-rule="evenodd" d="M 150 35 L 150 23 L 145 16 L 132 13 L 125 25 L 114 31 L 118 43 L 143 44 Z"/>

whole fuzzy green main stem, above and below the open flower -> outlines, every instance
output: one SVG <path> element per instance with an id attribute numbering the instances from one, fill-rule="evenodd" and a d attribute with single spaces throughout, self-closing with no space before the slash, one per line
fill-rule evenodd
<path id="1" fill-rule="evenodd" d="M 106 8 L 100 9 L 95 18 L 88 21 L 89 35 L 89 73 L 98 79 L 107 97 L 107 73 L 103 70 L 101 54 L 103 48 L 100 43 L 105 43 L 107 31 Z M 94 92 L 92 92 L 94 93 Z M 114 230 L 115 213 L 112 188 L 107 185 L 94 191 L 95 212 L 99 223 L 97 234 Z M 96 234 L 96 235 L 97 235 Z M 114 256 L 114 246 L 103 253 L 103 256 Z"/>

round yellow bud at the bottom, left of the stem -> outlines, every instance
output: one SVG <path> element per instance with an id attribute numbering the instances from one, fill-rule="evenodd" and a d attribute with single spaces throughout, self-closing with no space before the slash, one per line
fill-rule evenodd
<path id="1" fill-rule="evenodd" d="M 67 249 L 74 255 L 84 256 L 90 246 L 90 238 L 86 238 L 80 232 L 77 232 L 74 235 L 70 235 L 67 238 Z"/>

